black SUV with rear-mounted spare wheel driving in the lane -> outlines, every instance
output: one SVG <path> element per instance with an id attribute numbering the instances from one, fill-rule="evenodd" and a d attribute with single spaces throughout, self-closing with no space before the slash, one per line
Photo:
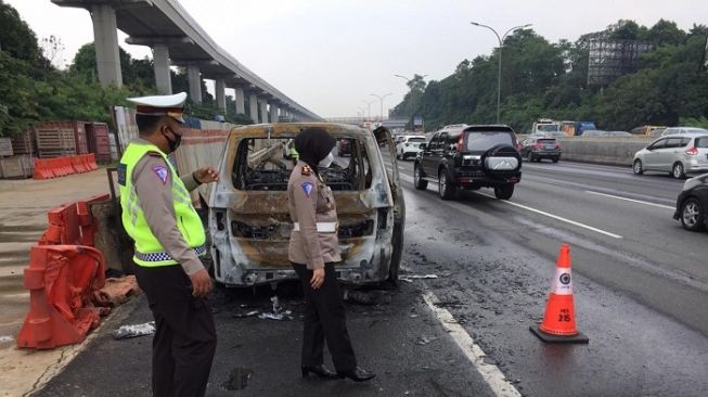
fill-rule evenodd
<path id="1" fill-rule="evenodd" d="M 516 135 L 509 126 L 464 126 L 435 132 L 415 158 L 415 189 L 438 183 L 440 198 L 458 189 L 493 188 L 497 198 L 509 200 L 522 180 L 522 156 Z"/>

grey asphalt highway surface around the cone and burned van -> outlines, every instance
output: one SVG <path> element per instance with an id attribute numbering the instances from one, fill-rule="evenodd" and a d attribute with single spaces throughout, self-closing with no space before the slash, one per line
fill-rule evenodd
<path id="1" fill-rule="evenodd" d="M 681 181 L 629 168 L 524 163 L 509 202 L 487 189 L 443 202 L 435 183 L 413 190 L 412 162 L 400 170 L 402 271 L 438 278 L 369 292 L 374 306 L 347 304 L 361 364 L 378 376 L 366 384 L 301 380 L 297 286 L 221 290 L 208 395 L 708 395 L 708 233 L 671 218 Z M 564 242 L 587 345 L 549 345 L 529 332 L 542 319 Z M 234 317 L 268 310 L 273 294 L 293 310 L 292 321 Z M 145 306 L 141 298 L 120 308 L 38 395 L 150 395 L 151 337 L 108 335 L 150 320 Z M 228 385 L 232 374 L 250 371 L 241 389 Z"/>

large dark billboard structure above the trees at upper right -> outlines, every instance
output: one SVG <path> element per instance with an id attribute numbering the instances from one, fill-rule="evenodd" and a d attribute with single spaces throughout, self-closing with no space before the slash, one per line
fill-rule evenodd
<path id="1" fill-rule="evenodd" d="M 588 86 L 607 86 L 617 77 L 636 71 L 640 56 L 654 44 L 639 40 L 596 38 L 590 41 Z"/>

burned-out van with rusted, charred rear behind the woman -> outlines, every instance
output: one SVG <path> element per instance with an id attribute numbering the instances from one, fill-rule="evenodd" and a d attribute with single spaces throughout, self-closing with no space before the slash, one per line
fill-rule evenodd
<path id="1" fill-rule="evenodd" d="M 233 129 L 208 194 L 213 273 L 227 286 L 296 279 L 287 259 L 293 229 L 287 181 L 295 161 L 283 150 L 302 129 L 324 128 L 337 139 L 335 162 L 320 169 L 337 202 L 340 281 L 395 283 L 403 245 L 406 207 L 395 146 L 385 128 L 293 123 Z M 339 146 L 349 149 L 338 155 Z"/>

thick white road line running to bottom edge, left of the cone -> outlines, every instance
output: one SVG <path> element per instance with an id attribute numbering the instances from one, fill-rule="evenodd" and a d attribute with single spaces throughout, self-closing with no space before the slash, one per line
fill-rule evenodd
<path id="1" fill-rule="evenodd" d="M 475 344 L 472 340 L 472 336 L 465 331 L 458 320 L 452 317 L 450 311 L 443 308 L 435 306 L 435 302 L 439 299 L 432 292 L 426 292 L 423 294 L 423 299 L 428 305 L 428 308 L 433 311 L 435 317 L 438 319 L 442 328 L 445 328 L 452 341 L 458 345 L 460 350 L 467 357 L 469 362 L 475 367 L 477 372 L 481 377 L 489 384 L 489 387 L 499 397 L 520 397 L 522 394 L 518 393 L 516 387 L 511 384 L 502 371 L 494 364 L 489 364 L 485 362 L 485 357 L 487 356 L 485 351 Z"/>

